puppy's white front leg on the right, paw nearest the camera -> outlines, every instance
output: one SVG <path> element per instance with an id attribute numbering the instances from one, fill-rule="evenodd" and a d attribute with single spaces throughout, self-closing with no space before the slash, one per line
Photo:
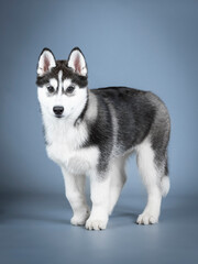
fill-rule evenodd
<path id="1" fill-rule="evenodd" d="M 106 229 L 109 219 L 109 175 L 94 173 L 90 175 L 92 209 L 86 222 L 86 229 Z"/>

